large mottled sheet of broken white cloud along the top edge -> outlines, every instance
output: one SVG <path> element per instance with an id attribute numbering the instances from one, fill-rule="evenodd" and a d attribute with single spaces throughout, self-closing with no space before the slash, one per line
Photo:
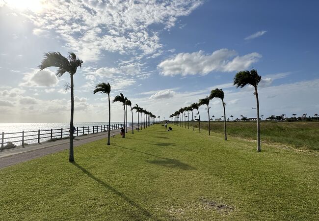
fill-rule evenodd
<path id="1" fill-rule="evenodd" d="M 21 14 L 33 21 L 35 35 L 46 35 L 52 30 L 81 59 L 97 61 L 102 50 L 131 55 L 156 54 L 162 45 L 159 33 L 150 26 L 156 24 L 170 29 L 178 17 L 189 15 L 202 2 L 51 0 L 37 13 Z"/>

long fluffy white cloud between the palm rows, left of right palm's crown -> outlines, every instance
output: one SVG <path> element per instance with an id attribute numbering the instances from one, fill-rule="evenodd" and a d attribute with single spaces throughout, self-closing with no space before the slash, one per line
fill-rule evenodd
<path id="1" fill-rule="evenodd" d="M 262 55 L 254 52 L 238 56 L 234 50 L 220 49 L 205 55 L 203 51 L 180 53 L 162 61 L 158 68 L 164 76 L 207 75 L 212 71 L 232 72 L 247 69 Z"/>

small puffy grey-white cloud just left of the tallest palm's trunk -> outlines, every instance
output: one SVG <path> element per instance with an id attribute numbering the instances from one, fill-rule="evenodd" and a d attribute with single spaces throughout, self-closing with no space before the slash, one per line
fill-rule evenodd
<path id="1" fill-rule="evenodd" d="M 27 87 L 54 87 L 59 83 L 59 80 L 55 76 L 54 72 L 49 69 L 46 70 L 34 70 L 31 73 L 25 74 L 23 77 L 23 83 L 20 86 Z"/>

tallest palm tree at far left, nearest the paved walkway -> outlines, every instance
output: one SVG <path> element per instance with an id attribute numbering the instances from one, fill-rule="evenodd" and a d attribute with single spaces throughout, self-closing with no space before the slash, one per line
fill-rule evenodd
<path id="1" fill-rule="evenodd" d="M 69 162 L 74 162 L 73 152 L 73 115 L 74 115 L 74 83 L 73 75 L 77 72 L 77 68 L 82 66 L 83 61 L 77 58 L 73 52 L 69 52 L 68 58 L 61 55 L 59 52 L 48 52 L 44 54 L 44 58 L 39 65 L 40 70 L 47 67 L 57 67 L 55 75 L 61 77 L 65 72 L 68 72 L 71 77 L 71 119 L 70 119 L 70 150 L 69 150 Z"/>

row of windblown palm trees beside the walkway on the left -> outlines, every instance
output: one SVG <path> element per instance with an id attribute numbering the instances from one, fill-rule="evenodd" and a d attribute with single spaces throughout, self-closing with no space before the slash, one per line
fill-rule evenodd
<path id="1" fill-rule="evenodd" d="M 68 72 L 70 74 L 71 78 L 71 84 L 69 85 L 71 89 L 71 118 L 70 118 L 70 148 L 69 148 L 69 162 L 74 162 L 74 145 L 73 145 L 73 139 L 74 139 L 74 123 L 73 123 L 73 117 L 74 117 L 74 82 L 73 82 L 73 76 L 76 74 L 78 67 L 82 66 L 83 61 L 73 53 L 69 52 L 68 57 L 64 57 L 59 52 L 48 52 L 44 54 L 43 60 L 41 64 L 39 65 L 40 70 L 43 70 L 48 67 L 57 67 L 57 71 L 55 75 L 57 77 L 61 77 L 64 73 Z M 95 89 L 93 91 L 94 94 L 96 93 L 104 93 L 108 96 L 108 133 L 107 133 L 107 145 L 110 145 L 110 122 L 111 122 L 111 105 L 110 105 L 110 92 L 111 92 L 111 86 L 109 83 L 98 83 L 95 86 Z M 134 134 L 134 128 L 133 128 L 133 110 L 136 110 L 137 114 L 137 131 L 139 131 L 139 113 L 141 113 L 141 130 L 143 126 L 143 114 L 144 114 L 144 129 L 147 126 L 150 126 L 151 120 L 156 120 L 156 116 L 146 111 L 143 108 L 138 107 L 136 104 L 135 107 L 132 108 L 132 102 L 128 100 L 127 97 L 124 97 L 122 93 L 120 95 L 116 95 L 112 101 L 114 102 L 120 102 L 123 104 L 124 107 L 124 130 L 126 130 L 127 133 L 127 108 L 130 106 L 131 112 L 132 112 L 132 134 Z M 125 134 L 124 134 L 125 138 Z"/>

